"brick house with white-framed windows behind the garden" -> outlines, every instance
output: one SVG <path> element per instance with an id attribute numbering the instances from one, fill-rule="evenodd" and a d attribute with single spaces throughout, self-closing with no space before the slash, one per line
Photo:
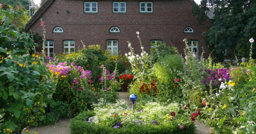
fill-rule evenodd
<path id="1" fill-rule="evenodd" d="M 159 43 L 175 46 L 183 53 L 187 38 L 191 48 L 201 56 L 202 47 L 208 57 L 202 33 L 213 26 L 208 18 L 197 26 L 191 9 L 194 0 L 47 0 L 26 24 L 26 31 L 43 34 L 41 21 L 46 28 L 47 55 L 68 53 L 86 46 L 99 44 L 102 50 L 115 50 L 113 54 L 129 52 L 130 41 L 135 53 L 140 53 L 136 32 L 140 32 L 147 52 Z M 193 46 L 194 44 L 194 46 Z M 37 51 L 42 50 L 39 44 Z"/>

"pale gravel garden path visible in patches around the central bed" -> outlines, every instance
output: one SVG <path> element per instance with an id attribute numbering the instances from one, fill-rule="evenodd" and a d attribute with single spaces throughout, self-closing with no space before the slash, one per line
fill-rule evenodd
<path id="1" fill-rule="evenodd" d="M 118 99 L 124 99 L 129 103 L 128 107 L 129 109 L 132 108 L 132 102 L 129 100 L 129 93 L 124 92 L 118 92 Z M 28 130 L 32 131 L 33 133 L 37 132 L 39 134 L 70 134 L 69 124 L 70 124 L 69 118 L 65 119 L 59 119 L 55 122 L 53 125 L 43 126 L 43 127 L 30 127 Z M 198 131 L 197 134 L 208 134 L 208 131 L 210 130 L 209 127 L 206 127 L 203 123 L 200 123 L 199 121 L 195 122 Z M 22 134 L 25 134 L 25 131 L 22 132 Z"/>

